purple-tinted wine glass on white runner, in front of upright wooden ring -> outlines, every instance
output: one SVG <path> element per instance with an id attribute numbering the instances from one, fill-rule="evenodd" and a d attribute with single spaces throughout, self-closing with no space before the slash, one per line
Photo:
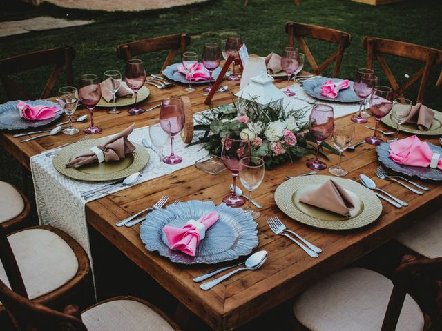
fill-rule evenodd
<path id="1" fill-rule="evenodd" d="M 164 157 L 163 161 L 167 164 L 177 164 L 182 162 L 182 158 L 173 153 L 173 139 L 184 128 L 184 105 L 181 99 L 168 98 L 161 103 L 160 119 L 169 121 L 170 126 L 162 127 L 163 130 L 169 130 L 171 134 L 171 154 Z M 167 132 L 167 131 L 166 131 Z"/>

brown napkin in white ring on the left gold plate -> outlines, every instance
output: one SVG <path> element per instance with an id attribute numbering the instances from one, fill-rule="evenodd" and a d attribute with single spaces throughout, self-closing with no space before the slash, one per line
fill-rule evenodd
<path id="1" fill-rule="evenodd" d="M 97 161 L 102 163 L 124 159 L 126 154 L 131 154 L 136 148 L 128 139 L 128 135 L 132 133 L 134 127 L 135 123 L 109 138 L 103 145 L 94 146 L 90 148 L 90 152 L 78 155 L 66 164 L 66 168 L 80 167 Z"/>

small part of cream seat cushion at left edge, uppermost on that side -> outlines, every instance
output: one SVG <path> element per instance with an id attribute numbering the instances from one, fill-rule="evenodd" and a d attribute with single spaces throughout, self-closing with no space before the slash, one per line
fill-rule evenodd
<path id="1" fill-rule="evenodd" d="M 0 223 L 17 217 L 25 208 L 25 202 L 14 186 L 0 181 Z"/>

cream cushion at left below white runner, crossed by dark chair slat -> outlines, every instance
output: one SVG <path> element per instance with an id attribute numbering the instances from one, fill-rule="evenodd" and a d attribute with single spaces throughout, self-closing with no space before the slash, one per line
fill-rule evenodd
<path id="1" fill-rule="evenodd" d="M 77 274 L 75 253 L 54 232 L 28 229 L 10 234 L 8 240 L 30 299 L 56 290 Z M 1 260 L 0 279 L 10 286 Z"/>

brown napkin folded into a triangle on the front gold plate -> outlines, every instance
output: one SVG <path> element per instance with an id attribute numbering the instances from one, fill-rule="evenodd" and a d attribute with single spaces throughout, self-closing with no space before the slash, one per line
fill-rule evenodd
<path id="1" fill-rule="evenodd" d="M 320 185 L 316 190 L 303 194 L 299 201 L 347 217 L 350 216 L 350 211 L 354 210 L 352 198 L 341 185 L 332 179 Z"/>

